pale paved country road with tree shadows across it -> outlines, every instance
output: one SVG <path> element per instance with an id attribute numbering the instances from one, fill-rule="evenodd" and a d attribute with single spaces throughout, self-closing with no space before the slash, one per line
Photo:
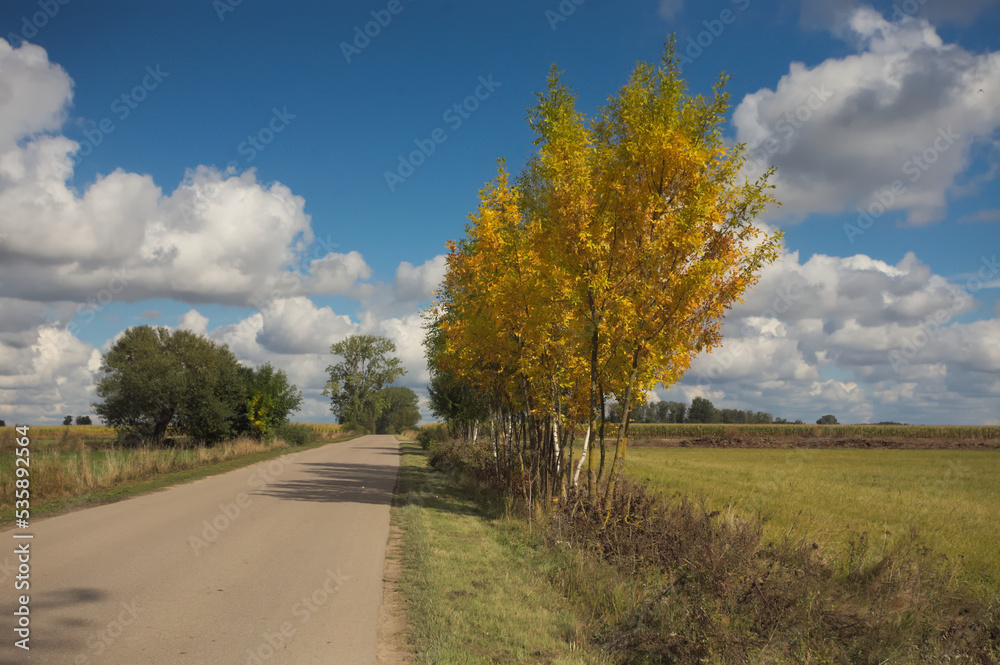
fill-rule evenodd
<path id="1" fill-rule="evenodd" d="M 398 468 L 366 436 L 0 533 L 0 663 L 373 663 Z"/>

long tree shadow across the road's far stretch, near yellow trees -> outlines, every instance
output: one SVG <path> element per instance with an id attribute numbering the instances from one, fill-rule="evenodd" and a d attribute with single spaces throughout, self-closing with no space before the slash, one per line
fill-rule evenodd
<path id="1" fill-rule="evenodd" d="M 398 453 L 393 452 L 393 455 Z M 389 505 L 396 482 L 396 467 L 373 464 L 307 462 L 301 465 L 307 479 L 274 482 L 252 494 L 291 501 L 371 503 Z"/>

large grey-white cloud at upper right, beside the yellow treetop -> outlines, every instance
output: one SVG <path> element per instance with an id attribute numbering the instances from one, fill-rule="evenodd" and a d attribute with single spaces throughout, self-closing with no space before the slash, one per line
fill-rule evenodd
<path id="1" fill-rule="evenodd" d="M 871 8 L 851 11 L 840 32 L 856 53 L 792 63 L 774 89 L 735 109 L 748 175 L 777 166 L 780 213 L 791 218 L 877 203 L 909 224 L 941 219 L 967 184 L 970 148 L 991 145 L 1000 128 L 1000 53 L 967 51 L 924 19 L 892 22 Z"/>

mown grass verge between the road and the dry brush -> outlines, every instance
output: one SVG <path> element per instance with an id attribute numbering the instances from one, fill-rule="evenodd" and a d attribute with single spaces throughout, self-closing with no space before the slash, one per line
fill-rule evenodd
<path id="1" fill-rule="evenodd" d="M 393 523 L 416 663 L 610 663 L 560 588 L 565 561 L 540 529 L 402 441 Z"/>

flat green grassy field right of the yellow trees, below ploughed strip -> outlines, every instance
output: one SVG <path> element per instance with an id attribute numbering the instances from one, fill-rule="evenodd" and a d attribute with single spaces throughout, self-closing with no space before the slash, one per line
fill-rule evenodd
<path id="1" fill-rule="evenodd" d="M 808 538 L 831 560 L 858 534 L 875 556 L 912 526 L 977 594 L 1000 593 L 996 451 L 633 449 L 628 470 L 663 494 L 760 516 L 767 537 Z"/>

